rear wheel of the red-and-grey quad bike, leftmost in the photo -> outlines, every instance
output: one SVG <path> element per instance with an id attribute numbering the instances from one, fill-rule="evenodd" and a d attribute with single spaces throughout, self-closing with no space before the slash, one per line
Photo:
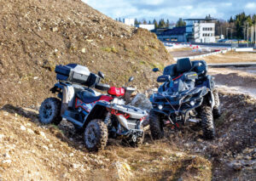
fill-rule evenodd
<path id="1" fill-rule="evenodd" d="M 44 99 L 39 110 L 39 122 L 58 125 L 61 120 L 61 100 L 56 98 Z"/>

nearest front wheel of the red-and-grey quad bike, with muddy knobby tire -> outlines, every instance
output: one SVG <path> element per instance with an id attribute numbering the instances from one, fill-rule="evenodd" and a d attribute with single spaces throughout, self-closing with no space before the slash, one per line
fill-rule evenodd
<path id="1" fill-rule="evenodd" d="M 108 142 L 108 127 L 100 119 L 92 120 L 84 129 L 84 144 L 89 151 L 104 150 Z"/>

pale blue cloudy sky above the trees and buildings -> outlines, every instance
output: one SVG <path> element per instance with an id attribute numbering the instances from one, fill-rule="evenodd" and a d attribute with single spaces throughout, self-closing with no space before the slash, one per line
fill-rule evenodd
<path id="1" fill-rule="evenodd" d="M 159 20 L 214 18 L 227 20 L 241 12 L 256 14 L 256 0 L 83 0 L 111 18 Z"/>

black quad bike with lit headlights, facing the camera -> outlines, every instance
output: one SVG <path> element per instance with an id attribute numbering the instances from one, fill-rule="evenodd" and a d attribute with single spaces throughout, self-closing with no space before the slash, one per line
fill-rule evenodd
<path id="1" fill-rule="evenodd" d="M 164 137 L 164 127 L 175 130 L 189 122 L 200 124 L 205 139 L 213 139 L 213 118 L 220 116 L 220 110 L 218 91 L 212 76 L 207 75 L 206 62 L 177 59 L 177 64 L 166 66 L 157 82 L 164 83 L 150 97 L 153 109 L 149 112 L 149 125 L 153 139 Z"/>

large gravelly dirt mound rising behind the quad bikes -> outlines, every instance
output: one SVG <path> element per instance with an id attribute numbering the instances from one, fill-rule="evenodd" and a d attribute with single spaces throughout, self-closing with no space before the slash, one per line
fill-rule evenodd
<path id="1" fill-rule="evenodd" d="M 121 86 L 135 76 L 146 88 L 152 67 L 172 57 L 156 36 L 75 0 L 0 1 L 0 105 L 39 105 L 55 82 L 55 65 L 78 63 Z M 146 85 L 146 86 L 145 86 Z"/>

